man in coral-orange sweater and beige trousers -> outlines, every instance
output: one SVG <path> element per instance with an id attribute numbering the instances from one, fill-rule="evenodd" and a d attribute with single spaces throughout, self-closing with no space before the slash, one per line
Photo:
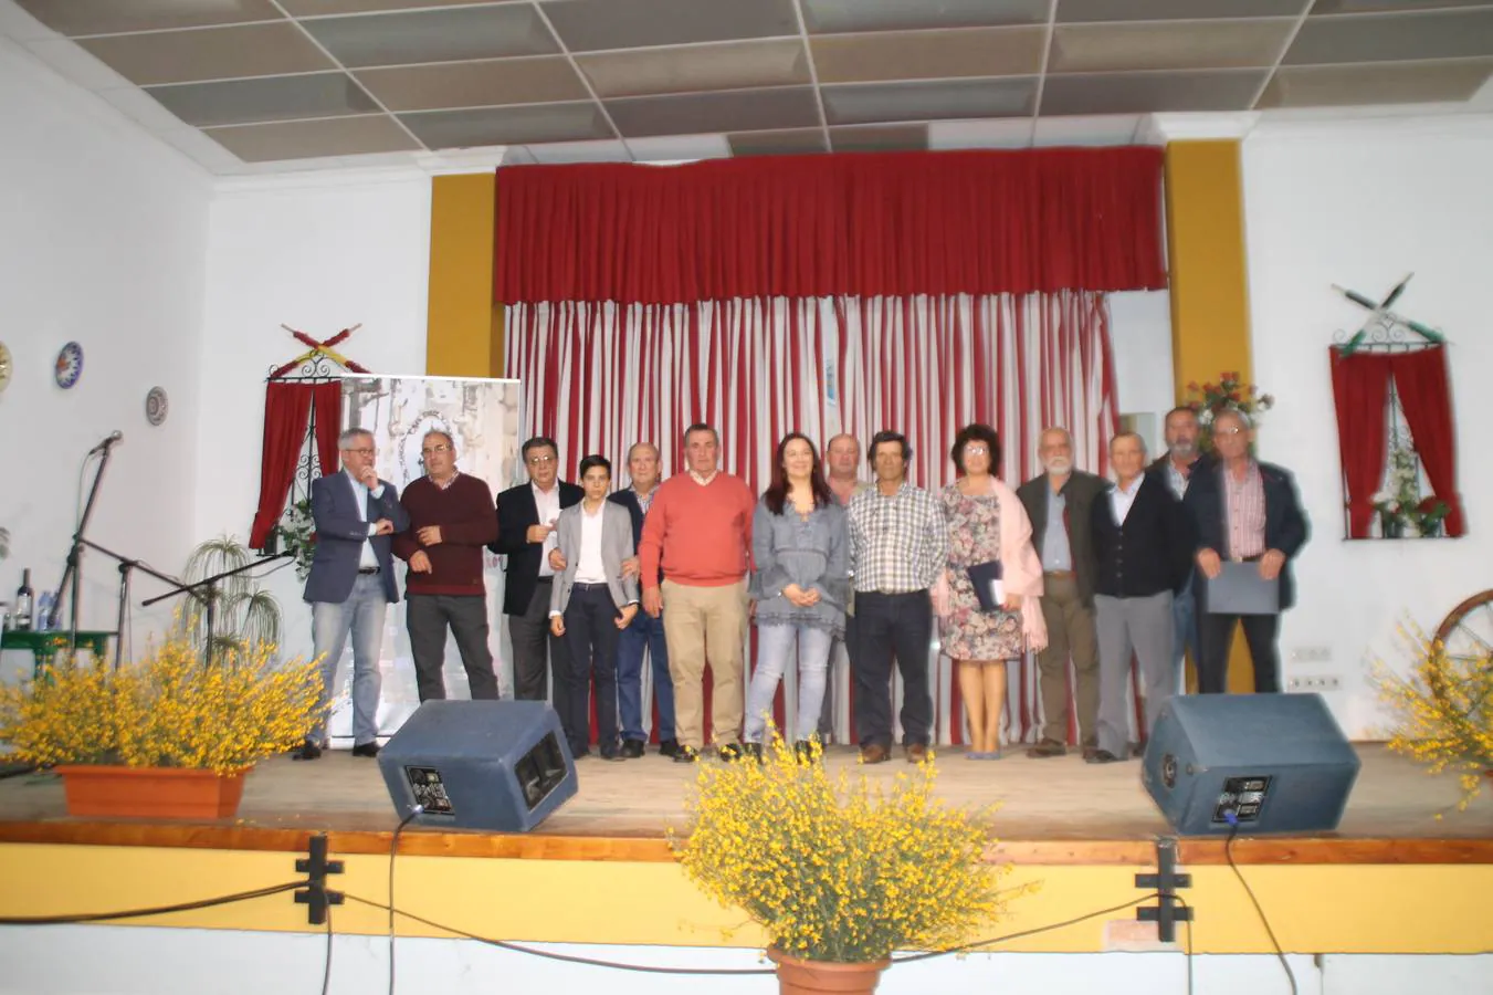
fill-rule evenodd
<path id="1" fill-rule="evenodd" d="M 741 754 L 742 641 L 746 638 L 746 574 L 755 499 L 717 463 L 721 438 L 708 424 L 684 433 L 687 474 L 658 486 L 643 520 L 643 611 L 663 630 L 673 677 L 676 763 L 693 763 L 705 746 L 705 663 L 712 675 L 712 738 L 721 759 Z M 658 580 L 663 566 L 664 580 Z"/>

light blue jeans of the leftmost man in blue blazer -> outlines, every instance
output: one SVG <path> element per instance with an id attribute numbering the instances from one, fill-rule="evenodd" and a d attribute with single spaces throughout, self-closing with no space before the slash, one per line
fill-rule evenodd
<path id="1" fill-rule="evenodd" d="M 378 738 L 378 692 L 384 684 L 379 650 L 384 644 L 384 617 L 388 595 L 378 574 L 358 574 L 352 593 L 342 604 L 315 601 L 311 604 L 311 641 L 321 657 L 321 707 L 331 701 L 337 684 L 342 650 L 352 635 L 352 743 L 363 746 Z M 321 713 L 309 743 L 327 741 L 327 714 Z"/>

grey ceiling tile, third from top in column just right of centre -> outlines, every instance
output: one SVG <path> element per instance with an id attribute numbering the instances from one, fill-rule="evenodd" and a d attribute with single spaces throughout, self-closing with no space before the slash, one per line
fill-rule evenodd
<path id="1" fill-rule="evenodd" d="M 953 79 L 823 87 L 830 124 L 1030 117 L 1036 79 Z"/>

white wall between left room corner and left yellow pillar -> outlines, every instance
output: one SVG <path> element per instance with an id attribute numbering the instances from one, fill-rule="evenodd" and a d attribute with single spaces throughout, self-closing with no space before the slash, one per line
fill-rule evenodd
<path id="1" fill-rule="evenodd" d="M 376 373 L 426 372 L 430 178 L 415 172 L 221 181 L 208 236 L 194 535 L 248 542 L 260 495 L 264 378 L 305 351 L 281 323 Z M 285 613 L 282 645 L 311 653 L 293 568 L 264 583 Z"/>

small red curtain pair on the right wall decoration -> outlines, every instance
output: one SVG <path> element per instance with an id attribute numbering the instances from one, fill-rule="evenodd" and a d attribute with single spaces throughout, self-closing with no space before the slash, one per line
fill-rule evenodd
<path id="1" fill-rule="evenodd" d="M 1327 356 L 1338 408 L 1338 453 L 1348 502 L 1348 535 L 1368 538 L 1374 523 L 1374 495 L 1384 478 L 1387 456 L 1386 397 L 1391 378 L 1432 493 L 1447 503 L 1447 535 L 1465 535 L 1447 347 L 1350 356 L 1342 354 L 1342 347 L 1332 347 Z"/>

